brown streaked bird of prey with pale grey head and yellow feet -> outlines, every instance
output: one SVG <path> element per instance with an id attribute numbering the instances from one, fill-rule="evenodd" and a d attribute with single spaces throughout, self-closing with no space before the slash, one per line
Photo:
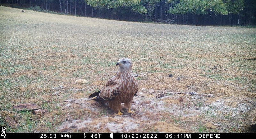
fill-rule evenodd
<path id="1" fill-rule="evenodd" d="M 132 74 L 132 62 L 130 59 L 121 58 L 116 63 L 116 66 L 119 66 L 116 76 L 108 80 L 100 91 L 92 93 L 89 98 L 97 96 L 95 100 L 108 101 L 109 108 L 117 112 L 118 116 L 121 116 L 123 115 L 120 112 L 122 109 L 121 103 L 124 103 L 124 107 L 128 108 L 128 113 L 132 113 L 130 108 L 133 96 L 138 91 L 138 83 Z"/>

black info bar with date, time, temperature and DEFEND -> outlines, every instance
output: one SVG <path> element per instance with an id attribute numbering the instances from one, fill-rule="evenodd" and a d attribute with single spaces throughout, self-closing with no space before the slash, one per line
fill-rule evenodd
<path id="1" fill-rule="evenodd" d="M 227 139 L 256 133 L 5 133 L 5 138 L 24 139 Z M 0 139 L 4 136 L 0 136 Z"/>

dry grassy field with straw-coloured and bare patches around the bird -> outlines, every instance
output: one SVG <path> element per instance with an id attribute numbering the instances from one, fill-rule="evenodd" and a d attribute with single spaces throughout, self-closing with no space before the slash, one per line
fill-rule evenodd
<path id="1" fill-rule="evenodd" d="M 256 57 L 255 28 L 24 11 L 0 6 L 0 126 L 12 123 L 7 132 L 248 131 L 256 61 L 244 58 Z M 135 113 L 119 117 L 88 96 L 115 75 L 121 57 L 132 60 L 139 90 Z M 82 78 L 88 82 L 74 83 Z M 21 103 L 45 112 L 13 108 Z"/>

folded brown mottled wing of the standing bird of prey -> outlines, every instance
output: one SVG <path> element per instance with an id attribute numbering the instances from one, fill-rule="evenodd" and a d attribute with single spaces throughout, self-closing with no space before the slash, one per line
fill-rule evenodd
<path id="1" fill-rule="evenodd" d="M 103 100 L 112 100 L 115 98 L 118 94 L 122 92 L 121 90 L 121 81 L 118 80 L 115 76 L 112 77 L 106 85 L 103 87 L 103 89 L 100 91 L 100 94 L 98 97 Z M 98 98 L 97 97 L 97 98 Z"/>

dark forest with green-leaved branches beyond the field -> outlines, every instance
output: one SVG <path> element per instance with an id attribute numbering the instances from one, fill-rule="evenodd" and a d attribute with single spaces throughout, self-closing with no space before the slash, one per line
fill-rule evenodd
<path id="1" fill-rule="evenodd" d="M 1 0 L 0 4 L 124 21 L 256 25 L 255 0 Z"/>

